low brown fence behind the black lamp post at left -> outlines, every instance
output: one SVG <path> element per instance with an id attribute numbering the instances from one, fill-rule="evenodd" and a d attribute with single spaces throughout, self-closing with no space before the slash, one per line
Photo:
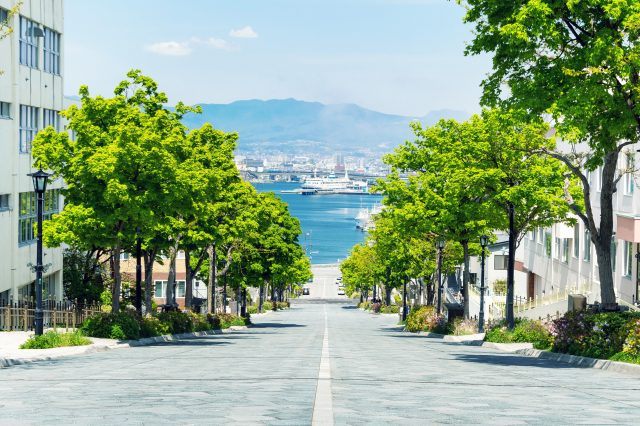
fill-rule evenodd
<path id="1" fill-rule="evenodd" d="M 78 302 L 44 301 L 42 304 L 45 328 L 78 328 L 85 319 L 101 312 L 99 304 L 83 304 Z M 0 301 L 0 330 L 29 331 L 33 330 L 35 320 L 35 303 L 32 301 L 10 302 Z"/>

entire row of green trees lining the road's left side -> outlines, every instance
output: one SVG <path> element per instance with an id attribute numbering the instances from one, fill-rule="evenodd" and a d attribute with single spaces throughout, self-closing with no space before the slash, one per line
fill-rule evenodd
<path id="1" fill-rule="evenodd" d="M 111 98 L 82 87 L 80 105 L 61 113 L 71 135 L 47 128 L 34 140 L 35 164 L 66 184 L 63 211 L 45 224 L 45 244 L 83 252 L 85 281 L 107 260 L 116 311 L 120 255 L 136 253 L 138 245 L 147 312 L 153 265 L 161 258 L 169 265 L 165 297 L 174 300 L 180 250 L 187 306 L 198 276 L 208 283 L 209 310 L 220 277 L 236 288 L 267 284 L 273 296 L 306 281 L 310 265 L 298 244 L 300 224 L 275 195 L 241 180 L 233 161 L 237 135 L 211 124 L 187 129 L 182 117 L 198 108 L 178 103 L 169 109 L 151 78 L 137 70 L 127 77 Z"/>

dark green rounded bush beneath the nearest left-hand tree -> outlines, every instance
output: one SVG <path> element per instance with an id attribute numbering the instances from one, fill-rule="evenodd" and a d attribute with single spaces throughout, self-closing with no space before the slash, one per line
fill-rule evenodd
<path id="1" fill-rule="evenodd" d="M 134 340 L 140 338 L 139 319 L 135 313 L 109 312 L 87 318 L 80 330 L 91 337 Z"/>

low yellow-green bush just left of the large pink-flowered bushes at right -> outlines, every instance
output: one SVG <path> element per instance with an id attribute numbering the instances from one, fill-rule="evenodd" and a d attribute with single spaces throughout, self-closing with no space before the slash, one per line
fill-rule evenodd
<path id="1" fill-rule="evenodd" d="M 505 322 L 490 327 L 484 340 L 493 343 L 531 343 L 536 349 L 549 349 L 553 345 L 553 335 L 540 321 L 517 319 L 513 330 Z"/>

